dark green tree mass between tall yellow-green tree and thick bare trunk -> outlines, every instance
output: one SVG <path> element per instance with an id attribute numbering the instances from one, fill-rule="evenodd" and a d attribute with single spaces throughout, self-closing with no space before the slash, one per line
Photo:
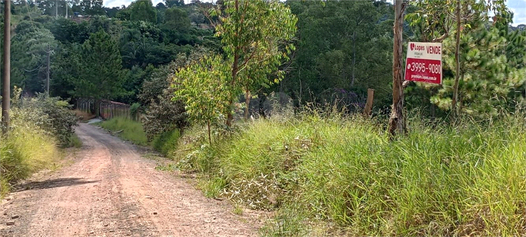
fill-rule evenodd
<path id="1" fill-rule="evenodd" d="M 392 89 L 393 7 L 380 1 L 287 1 L 298 17 L 296 51 L 280 88 L 301 102 L 362 102 L 375 89 L 387 107 Z M 345 91 L 339 93 L 338 91 Z M 384 102 L 387 100 L 388 102 Z"/>

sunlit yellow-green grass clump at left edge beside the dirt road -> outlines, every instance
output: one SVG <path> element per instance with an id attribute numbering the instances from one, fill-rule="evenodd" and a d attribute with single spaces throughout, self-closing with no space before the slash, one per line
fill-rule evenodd
<path id="1" fill-rule="evenodd" d="M 13 124 L 8 136 L 0 135 L 0 196 L 11 184 L 43 169 L 59 156 L 54 137 L 31 124 Z"/>

